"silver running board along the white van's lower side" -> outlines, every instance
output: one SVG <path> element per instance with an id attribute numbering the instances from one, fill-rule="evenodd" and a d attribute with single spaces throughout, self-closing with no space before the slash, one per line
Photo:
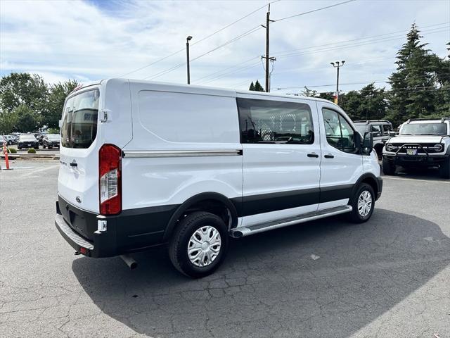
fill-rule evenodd
<path id="1" fill-rule="evenodd" d="M 324 209 L 321 211 L 314 211 L 312 213 L 304 213 L 289 218 L 281 218 L 279 220 L 271 220 L 270 222 L 251 225 L 250 227 L 237 227 L 231 229 L 230 234 L 234 238 L 249 236 L 250 234 L 257 234 L 268 230 L 278 229 L 278 227 L 287 227 L 289 225 L 309 222 L 310 220 L 318 220 L 328 216 L 339 215 L 340 213 L 349 213 L 352 211 L 352 206 L 337 206 L 335 208 Z"/>

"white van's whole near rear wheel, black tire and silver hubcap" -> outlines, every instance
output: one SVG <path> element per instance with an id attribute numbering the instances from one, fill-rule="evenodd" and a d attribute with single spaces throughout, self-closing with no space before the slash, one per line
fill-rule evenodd
<path id="1" fill-rule="evenodd" d="M 205 277 L 224 261 L 228 242 L 221 218 L 203 211 L 191 213 L 180 221 L 170 239 L 170 261 L 184 275 Z"/>

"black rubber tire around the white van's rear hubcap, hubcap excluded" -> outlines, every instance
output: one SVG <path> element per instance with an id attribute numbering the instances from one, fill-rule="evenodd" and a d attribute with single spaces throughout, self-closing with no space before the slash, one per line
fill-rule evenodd
<path id="1" fill-rule="evenodd" d="M 188 257 L 188 245 L 193 234 L 201 227 L 214 227 L 220 235 L 220 249 L 212 263 L 207 266 L 198 266 Z M 224 221 L 217 215 L 203 211 L 191 213 L 177 225 L 169 241 L 169 258 L 180 273 L 188 277 L 200 278 L 210 275 L 224 261 L 228 251 L 229 235 Z M 200 250 L 200 249 L 199 249 Z"/>

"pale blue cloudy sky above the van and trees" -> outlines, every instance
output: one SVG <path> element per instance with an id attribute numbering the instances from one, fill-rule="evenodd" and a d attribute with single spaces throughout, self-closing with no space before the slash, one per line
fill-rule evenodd
<path id="1" fill-rule="evenodd" d="M 370 82 L 389 88 L 396 53 L 413 23 L 428 49 L 449 55 L 450 0 L 344 2 L 271 1 L 271 92 L 333 91 L 333 61 L 345 61 L 343 92 Z M 259 80 L 264 86 L 261 25 L 268 4 L 0 0 L 0 75 L 37 73 L 50 84 L 107 77 L 186 83 L 191 35 L 191 84 L 248 89 Z M 333 7 L 314 11 L 327 6 Z"/>

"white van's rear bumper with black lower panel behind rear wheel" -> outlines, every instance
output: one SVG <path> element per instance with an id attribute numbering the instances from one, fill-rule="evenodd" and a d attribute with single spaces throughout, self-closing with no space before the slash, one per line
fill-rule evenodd
<path id="1" fill-rule="evenodd" d="M 101 258 L 165 244 L 163 235 L 177 206 L 158 206 L 103 216 L 85 211 L 58 196 L 55 225 L 66 242 L 84 256 Z M 98 221 L 105 221 L 105 231 Z"/>

